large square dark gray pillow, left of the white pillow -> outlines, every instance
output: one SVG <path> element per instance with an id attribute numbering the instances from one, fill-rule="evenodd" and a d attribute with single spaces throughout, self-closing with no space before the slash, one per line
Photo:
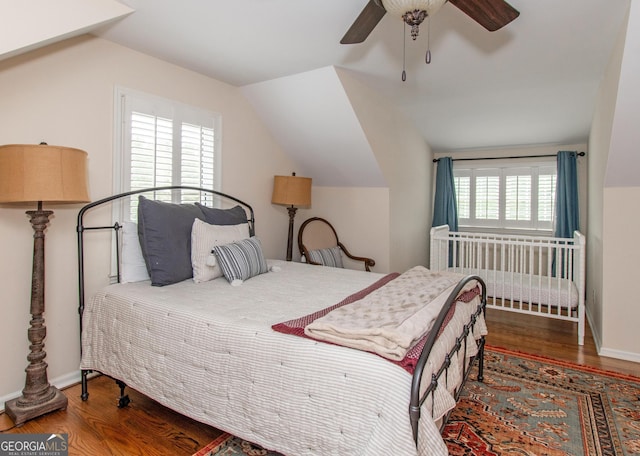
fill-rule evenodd
<path id="1" fill-rule="evenodd" d="M 151 285 L 170 285 L 193 277 L 191 227 L 196 218 L 205 217 L 194 204 L 139 197 L 138 236 Z"/>

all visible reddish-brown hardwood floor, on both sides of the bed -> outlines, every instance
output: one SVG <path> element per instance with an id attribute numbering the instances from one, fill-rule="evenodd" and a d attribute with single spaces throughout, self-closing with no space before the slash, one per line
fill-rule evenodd
<path id="1" fill-rule="evenodd" d="M 548 356 L 578 364 L 640 376 L 640 364 L 599 357 L 591 330 L 577 345 L 575 324 L 541 317 L 489 310 L 487 344 Z M 80 386 L 67 388 L 69 406 L 11 428 L 6 415 L 0 429 L 8 433 L 67 433 L 69 455 L 191 455 L 220 434 L 210 426 L 179 415 L 127 389 L 128 407 L 116 407 L 119 388 L 113 380 L 90 380 L 90 398 L 80 399 Z M 10 429 L 9 429 L 10 428 Z"/>

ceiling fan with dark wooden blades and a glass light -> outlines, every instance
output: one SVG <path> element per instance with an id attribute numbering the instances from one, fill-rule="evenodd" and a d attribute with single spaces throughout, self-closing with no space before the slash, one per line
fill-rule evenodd
<path id="1" fill-rule="evenodd" d="M 491 32 L 520 15 L 505 0 L 369 0 L 340 43 L 362 43 L 387 12 L 401 17 L 410 25 L 411 36 L 415 40 L 422 21 L 447 1 Z"/>

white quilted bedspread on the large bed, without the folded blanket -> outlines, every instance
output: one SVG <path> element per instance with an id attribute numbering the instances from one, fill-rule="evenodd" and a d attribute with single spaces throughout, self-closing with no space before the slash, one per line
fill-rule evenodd
<path id="1" fill-rule="evenodd" d="M 81 368 L 286 455 L 446 455 L 429 415 L 432 406 L 438 419 L 455 405 L 451 391 L 438 388 L 434 404 L 423 406 L 416 449 L 408 417 L 411 376 L 404 369 L 371 353 L 271 329 L 382 275 L 269 264 L 272 272 L 240 286 L 219 278 L 106 287 L 84 310 Z M 456 307 L 429 366 L 455 343 L 473 304 Z M 469 337 L 485 333 L 482 320 Z"/>

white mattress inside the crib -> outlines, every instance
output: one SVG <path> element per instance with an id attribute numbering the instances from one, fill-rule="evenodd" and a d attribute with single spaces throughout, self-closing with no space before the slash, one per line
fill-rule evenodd
<path id="1" fill-rule="evenodd" d="M 569 279 L 490 269 L 449 268 L 448 270 L 482 277 L 487 285 L 487 296 L 492 298 L 565 309 L 578 307 L 578 288 Z"/>

